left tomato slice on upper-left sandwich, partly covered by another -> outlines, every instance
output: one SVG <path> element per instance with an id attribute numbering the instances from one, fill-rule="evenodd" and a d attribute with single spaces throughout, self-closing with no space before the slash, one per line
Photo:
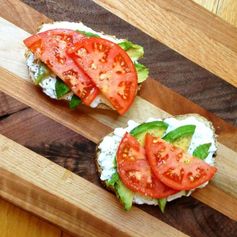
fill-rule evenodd
<path id="1" fill-rule="evenodd" d="M 99 89 L 66 53 L 69 47 L 84 38 L 84 35 L 73 30 L 55 29 L 32 35 L 24 40 L 24 44 L 63 80 L 84 104 L 90 105 L 99 94 Z"/>

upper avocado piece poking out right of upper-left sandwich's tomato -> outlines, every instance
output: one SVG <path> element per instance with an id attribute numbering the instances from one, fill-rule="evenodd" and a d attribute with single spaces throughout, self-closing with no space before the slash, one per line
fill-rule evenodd
<path id="1" fill-rule="evenodd" d="M 137 61 L 144 55 L 144 49 L 138 44 L 134 44 L 131 41 L 125 40 L 118 44 L 122 49 L 124 49 L 132 61 Z"/>

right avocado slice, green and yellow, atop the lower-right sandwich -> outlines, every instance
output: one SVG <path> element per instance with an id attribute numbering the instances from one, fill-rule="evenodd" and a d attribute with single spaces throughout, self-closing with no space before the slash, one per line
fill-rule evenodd
<path id="1" fill-rule="evenodd" d="M 195 125 L 184 125 L 170 131 L 162 139 L 187 151 L 195 129 Z"/>

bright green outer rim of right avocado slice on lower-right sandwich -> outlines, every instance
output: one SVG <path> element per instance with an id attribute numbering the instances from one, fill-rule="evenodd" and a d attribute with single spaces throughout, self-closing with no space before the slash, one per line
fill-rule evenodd
<path id="1" fill-rule="evenodd" d="M 163 137 L 163 139 L 167 142 L 173 143 L 175 140 L 183 136 L 193 135 L 195 132 L 195 129 L 196 129 L 195 125 L 184 125 L 170 131 Z"/>

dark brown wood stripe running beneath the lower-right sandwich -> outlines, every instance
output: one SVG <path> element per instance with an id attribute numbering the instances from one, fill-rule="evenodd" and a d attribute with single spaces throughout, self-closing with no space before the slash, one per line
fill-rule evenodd
<path id="1" fill-rule="evenodd" d="M 16 120 L 17 125 L 15 125 Z M 21 136 L 21 139 L 17 140 L 17 142 L 100 186 L 94 164 L 96 146 L 94 143 L 89 142 L 87 139 L 82 138 L 80 135 L 70 131 L 63 125 L 51 121 L 49 118 L 32 109 L 21 111 L 20 114 L 15 113 L 7 119 L 4 119 L 0 126 L 0 133 L 16 140 L 20 136 L 15 129 L 14 134 L 12 127 L 17 127 L 19 131 L 23 130 L 25 128 L 25 120 L 28 121 L 28 124 L 34 125 L 31 125 L 31 131 L 28 131 L 27 134 Z M 41 121 L 44 122 L 42 123 Z M 39 133 L 37 124 L 40 124 L 40 133 L 44 134 L 44 136 L 39 135 L 37 140 L 35 140 L 35 138 L 32 139 L 31 136 L 32 134 Z M 65 133 L 65 136 L 61 137 L 60 141 L 57 141 L 57 139 L 55 139 L 57 134 L 53 132 L 53 129 L 50 129 L 50 126 L 60 131 L 60 134 Z M 209 187 L 210 186 L 207 186 L 205 189 L 205 196 L 207 199 L 210 199 L 209 192 L 211 189 L 209 189 Z M 220 194 L 221 192 L 218 193 L 218 195 Z M 232 203 L 231 200 L 233 198 L 231 199 L 230 197 L 228 200 L 226 197 L 224 198 L 227 203 Z M 212 200 L 212 203 L 218 205 L 218 203 L 215 203 L 215 200 Z M 158 207 L 144 205 L 140 208 L 165 223 L 194 237 L 209 237 L 216 236 L 217 234 L 219 236 L 233 237 L 234 233 L 237 231 L 235 221 L 231 221 L 221 213 L 218 213 L 192 197 L 181 198 L 169 203 L 165 210 L 165 214 L 162 214 Z M 231 206 L 225 205 L 225 208 L 231 209 Z M 189 220 L 188 222 L 187 219 Z M 215 224 L 215 229 L 212 228 L 213 223 L 218 223 Z"/>

